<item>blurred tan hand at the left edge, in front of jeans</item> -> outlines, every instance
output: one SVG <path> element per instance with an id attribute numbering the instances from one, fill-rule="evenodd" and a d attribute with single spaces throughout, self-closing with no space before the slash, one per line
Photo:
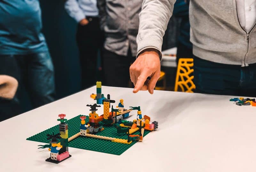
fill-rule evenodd
<path id="1" fill-rule="evenodd" d="M 12 99 L 17 91 L 18 81 L 12 76 L 0 75 L 0 97 Z"/>

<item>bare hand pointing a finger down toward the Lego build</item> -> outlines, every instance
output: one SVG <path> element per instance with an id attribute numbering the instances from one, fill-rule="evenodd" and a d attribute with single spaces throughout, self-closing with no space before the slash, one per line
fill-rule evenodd
<path id="1" fill-rule="evenodd" d="M 139 90 L 148 90 L 153 94 L 156 82 L 160 77 L 160 58 L 158 50 L 148 48 L 144 50 L 130 67 L 130 77 L 133 82 L 133 93 Z M 145 84 L 151 77 L 148 84 Z"/>

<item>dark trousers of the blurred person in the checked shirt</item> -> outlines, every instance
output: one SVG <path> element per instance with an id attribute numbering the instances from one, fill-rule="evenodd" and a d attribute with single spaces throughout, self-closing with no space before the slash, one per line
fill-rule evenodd
<path id="1" fill-rule="evenodd" d="M 105 83 L 103 85 L 112 87 L 128 87 L 130 81 L 129 68 L 136 60 L 129 48 L 127 56 L 118 55 L 103 48 L 103 73 Z"/>

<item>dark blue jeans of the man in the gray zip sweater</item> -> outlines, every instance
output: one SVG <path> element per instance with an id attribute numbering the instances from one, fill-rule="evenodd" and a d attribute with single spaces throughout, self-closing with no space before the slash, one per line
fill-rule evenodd
<path id="1" fill-rule="evenodd" d="M 256 97 L 256 63 L 241 67 L 194 56 L 194 83 L 198 93 Z"/>

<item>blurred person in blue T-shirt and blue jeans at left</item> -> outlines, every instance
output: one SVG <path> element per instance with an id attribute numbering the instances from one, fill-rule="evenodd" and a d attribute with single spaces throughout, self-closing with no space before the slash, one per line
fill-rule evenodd
<path id="1" fill-rule="evenodd" d="M 14 68 L 13 75 L 19 78 L 19 84 L 24 84 L 34 108 L 52 102 L 54 69 L 41 33 L 39 1 L 1 0 L 0 16 L 0 75 Z M 18 102 L 17 95 L 13 101 Z"/>

